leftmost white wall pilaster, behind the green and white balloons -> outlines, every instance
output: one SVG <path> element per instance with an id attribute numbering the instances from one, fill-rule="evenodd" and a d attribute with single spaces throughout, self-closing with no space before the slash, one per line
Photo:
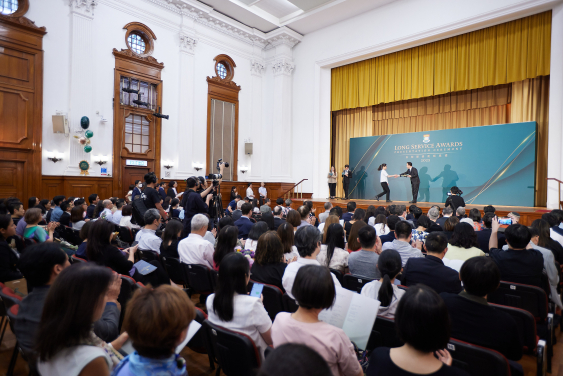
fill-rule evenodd
<path id="1" fill-rule="evenodd" d="M 70 101 L 69 101 L 69 126 L 70 126 L 70 157 L 65 175 L 79 175 L 80 161 L 90 162 L 90 154 L 85 153 L 84 146 L 74 138 L 77 131 L 81 131 L 80 119 L 87 116 L 90 119 L 90 128 L 96 133 L 93 123 L 97 121 L 94 116 L 94 80 L 95 70 L 93 42 L 94 10 L 98 5 L 97 0 L 69 0 L 70 5 Z M 95 149 L 92 151 L 95 152 Z"/>

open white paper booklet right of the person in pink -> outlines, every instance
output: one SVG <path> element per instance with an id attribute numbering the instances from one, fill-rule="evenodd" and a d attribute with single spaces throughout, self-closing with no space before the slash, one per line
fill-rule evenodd
<path id="1" fill-rule="evenodd" d="M 380 304 L 379 300 L 336 287 L 334 305 L 323 309 L 319 320 L 344 330 L 359 349 L 365 350 Z"/>

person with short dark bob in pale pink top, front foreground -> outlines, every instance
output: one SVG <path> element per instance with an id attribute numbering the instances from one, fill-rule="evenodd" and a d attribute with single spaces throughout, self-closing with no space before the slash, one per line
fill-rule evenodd
<path id="1" fill-rule="evenodd" d="M 298 238 L 303 229 L 297 230 Z M 333 375 L 363 375 L 354 347 L 344 331 L 319 320 L 319 313 L 332 307 L 336 298 L 334 277 L 328 268 L 303 266 L 297 272 L 291 291 L 299 308 L 295 313 L 280 312 L 276 316 L 272 326 L 274 347 L 303 344 L 326 360 Z"/>

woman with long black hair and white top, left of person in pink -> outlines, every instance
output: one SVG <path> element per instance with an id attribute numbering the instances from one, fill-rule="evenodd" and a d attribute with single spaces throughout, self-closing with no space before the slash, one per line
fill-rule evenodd
<path id="1" fill-rule="evenodd" d="M 272 344 L 272 321 L 262 298 L 247 295 L 250 281 L 248 260 L 232 252 L 221 261 L 221 273 L 215 294 L 207 298 L 208 320 L 229 330 L 248 335 L 260 354 Z"/>

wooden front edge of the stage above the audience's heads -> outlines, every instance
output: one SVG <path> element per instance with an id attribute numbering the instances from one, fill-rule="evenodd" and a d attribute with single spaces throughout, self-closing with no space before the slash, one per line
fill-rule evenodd
<path id="1" fill-rule="evenodd" d="M 407 207 L 407 210 L 409 208 L 410 204 L 408 201 L 393 201 L 393 202 L 385 202 L 385 200 L 342 200 L 342 199 L 336 199 L 336 200 L 329 200 L 329 199 L 298 199 L 298 198 L 293 198 L 292 199 L 293 204 L 291 205 L 291 207 L 293 209 L 297 209 L 299 206 L 303 205 L 303 201 L 313 201 L 313 208 L 316 209 L 315 214 L 318 216 L 320 213 L 324 212 L 324 204 L 327 201 L 330 201 L 332 203 L 333 206 L 340 206 L 344 209 L 344 212 L 346 212 L 346 205 L 348 204 L 348 202 L 350 201 L 354 201 L 356 203 L 356 207 L 358 208 L 362 208 L 362 209 L 367 209 L 368 206 L 370 205 L 374 205 L 376 208 L 378 206 L 383 206 L 383 207 L 388 207 L 389 205 L 405 205 Z M 428 209 L 430 209 L 433 205 L 438 205 L 440 206 L 440 212 L 442 209 L 444 209 L 444 203 L 443 202 L 418 202 L 416 204 L 414 204 L 416 206 L 418 206 L 419 208 L 422 209 L 423 213 L 427 213 Z M 495 207 L 496 209 L 496 214 L 499 217 L 504 217 L 506 216 L 508 213 L 510 212 L 517 212 L 518 214 L 520 214 L 520 223 L 523 225 L 531 225 L 532 222 L 536 219 L 541 218 L 542 214 L 544 213 L 549 213 L 551 210 L 545 208 L 545 207 L 529 207 L 529 206 L 497 206 L 494 204 L 491 204 Z M 479 209 L 479 211 L 481 212 L 481 216 L 483 215 L 483 207 L 486 205 L 466 205 L 466 214 L 469 214 L 469 210 L 476 208 Z"/>

